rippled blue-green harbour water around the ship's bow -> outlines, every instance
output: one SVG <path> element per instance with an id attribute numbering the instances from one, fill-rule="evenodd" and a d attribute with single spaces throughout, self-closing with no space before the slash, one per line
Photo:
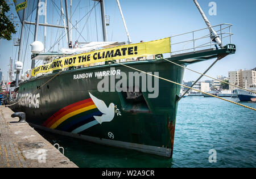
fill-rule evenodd
<path id="1" fill-rule="evenodd" d="M 256 167 L 256 112 L 214 97 L 180 100 L 172 159 L 39 133 L 78 167 Z"/>

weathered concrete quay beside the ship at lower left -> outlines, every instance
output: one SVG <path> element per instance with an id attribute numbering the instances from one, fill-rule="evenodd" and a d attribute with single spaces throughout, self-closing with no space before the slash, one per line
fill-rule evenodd
<path id="1" fill-rule="evenodd" d="M 0 168 L 77 168 L 27 122 L 0 105 Z"/>

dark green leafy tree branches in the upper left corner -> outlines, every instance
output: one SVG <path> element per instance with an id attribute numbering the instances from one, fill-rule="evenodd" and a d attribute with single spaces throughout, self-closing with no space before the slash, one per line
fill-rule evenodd
<path id="1" fill-rule="evenodd" d="M 5 0 L 0 0 L 0 39 L 11 40 L 13 33 L 16 33 L 14 24 L 6 16 L 10 11 L 9 5 Z"/>

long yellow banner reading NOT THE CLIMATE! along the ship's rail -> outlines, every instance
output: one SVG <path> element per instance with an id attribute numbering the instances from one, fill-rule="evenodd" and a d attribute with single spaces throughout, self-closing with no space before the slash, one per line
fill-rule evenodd
<path id="1" fill-rule="evenodd" d="M 170 52 L 170 37 L 168 37 L 161 40 L 121 45 L 113 48 L 77 54 L 75 56 L 54 59 L 51 63 L 35 67 L 35 69 L 32 70 L 31 75 L 35 76 L 39 73 L 47 73 L 49 71 L 59 70 L 71 66 L 88 65 L 90 63 L 105 62 L 114 59 L 150 56 Z"/>

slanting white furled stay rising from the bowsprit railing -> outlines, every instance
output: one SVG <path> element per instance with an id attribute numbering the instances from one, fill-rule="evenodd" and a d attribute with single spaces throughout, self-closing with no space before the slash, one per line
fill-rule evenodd
<path id="1" fill-rule="evenodd" d="M 198 8 L 200 14 L 202 15 L 205 24 L 207 24 L 207 27 L 209 28 L 210 31 L 210 39 L 212 39 L 212 41 L 216 42 L 218 44 L 218 46 L 220 46 L 220 48 L 222 48 L 222 42 L 220 40 L 220 37 L 217 35 L 217 33 L 214 31 L 214 29 L 212 28 L 212 26 L 210 25 L 209 20 L 207 19 L 207 17 L 204 14 L 204 11 L 201 9 L 199 3 L 196 0 L 193 0 L 196 7 Z"/>

